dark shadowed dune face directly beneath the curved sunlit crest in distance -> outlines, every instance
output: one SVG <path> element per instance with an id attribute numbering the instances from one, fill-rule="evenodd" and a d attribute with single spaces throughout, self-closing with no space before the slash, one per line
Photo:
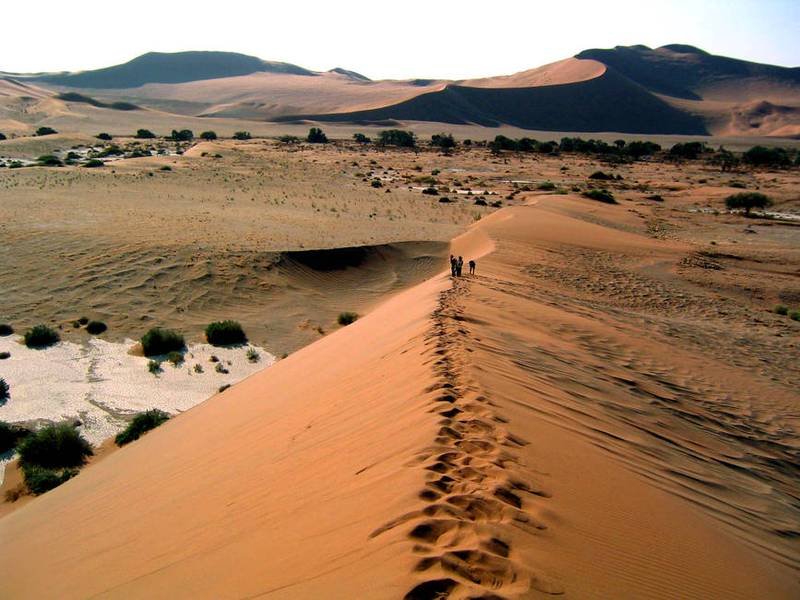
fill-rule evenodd
<path id="1" fill-rule="evenodd" d="M 707 133 L 702 119 L 674 108 L 624 77 L 606 71 L 599 77 L 563 85 L 530 88 L 472 88 L 448 85 L 405 102 L 326 115 L 294 115 L 280 120 L 415 120 L 500 124 L 554 131 Z"/>

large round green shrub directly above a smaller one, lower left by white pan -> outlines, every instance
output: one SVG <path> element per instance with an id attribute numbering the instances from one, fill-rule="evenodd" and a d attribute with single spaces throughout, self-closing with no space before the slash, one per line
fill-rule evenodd
<path id="1" fill-rule="evenodd" d="M 26 437 L 19 446 L 19 464 L 45 469 L 79 467 L 92 456 L 92 446 L 70 424 L 48 425 Z"/>

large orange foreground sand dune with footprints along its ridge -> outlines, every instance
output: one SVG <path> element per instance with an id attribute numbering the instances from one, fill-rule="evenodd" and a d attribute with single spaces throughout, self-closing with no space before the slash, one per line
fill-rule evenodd
<path id="1" fill-rule="evenodd" d="M 623 210 L 483 219 L 453 243 L 477 277 L 397 295 L 0 519 L 0 596 L 798 597 L 796 391 L 700 352 L 702 327 L 668 343 L 704 308 L 673 291 L 685 248 Z"/>

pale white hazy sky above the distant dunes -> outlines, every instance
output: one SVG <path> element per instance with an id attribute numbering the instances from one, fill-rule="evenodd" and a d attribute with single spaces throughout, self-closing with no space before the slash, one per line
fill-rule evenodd
<path id="1" fill-rule="evenodd" d="M 11 72 L 226 50 L 373 79 L 460 79 L 669 43 L 800 65 L 800 0 L 3 0 L 0 15 L 0 71 Z"/>

